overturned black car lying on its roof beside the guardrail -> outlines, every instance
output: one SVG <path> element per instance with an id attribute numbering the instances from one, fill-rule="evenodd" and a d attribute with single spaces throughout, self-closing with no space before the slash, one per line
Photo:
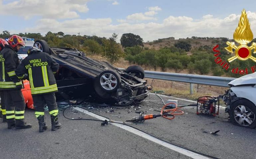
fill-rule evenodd
<path id="1" fill-rule="evenodd" d="M 140 66 L 122 71 L 107 62 L 88 58 L 77 49 L 49 47 L 44 40 L 35 41 L 34 46 L 60 64 L 55 76 L 59 89 L 57 100 L 92 96 L 98 102 L 129 105 L 141 102 L 151 89 L 143 80 L 144 70 Z"/>

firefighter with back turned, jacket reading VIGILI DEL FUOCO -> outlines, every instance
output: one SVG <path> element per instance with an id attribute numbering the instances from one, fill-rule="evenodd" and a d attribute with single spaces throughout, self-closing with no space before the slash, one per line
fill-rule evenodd
<path id="1" fill-rule="evenodd" d="M 44 106 L 47 104 L 52 121 L 52 131 L 61 128 L 58 122 L 58 106 L 55 92 L 58 91 L 54 74 L 58 71 L 59 64 L 47 53 L 41 52 L 36 47 L 28 50 L 28 56 L 22 60 L 15 73 L 19 79 L 26 74 L 29 77 L 31 94 L 35 106 L 35 115 L 39 123 L 39 132 L 47 129 L 45 123 Z"/>

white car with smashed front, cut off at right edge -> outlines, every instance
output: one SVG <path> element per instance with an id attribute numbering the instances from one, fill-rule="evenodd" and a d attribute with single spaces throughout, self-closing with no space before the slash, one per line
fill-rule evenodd
<path id="1" fill-rule="evenodd" d="M 256 128 L 256 72 L 234 79 L 228 83 L 230 89 L 225 91 L 223 100 L 227 105 L 234 125 Z"/>

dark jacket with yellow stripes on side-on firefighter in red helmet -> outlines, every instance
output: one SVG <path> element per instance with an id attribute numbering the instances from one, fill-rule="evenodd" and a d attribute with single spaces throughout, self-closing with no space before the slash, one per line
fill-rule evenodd
<path id="1" fill-rule="evenodd" d="M 18 54 L 14 49 L 5 45 L 0 53 L 0 89 L 16 89 L 17 85 L 22 85 L 20 79 L 15 74 L 15 69 L 19 66 Z"/>

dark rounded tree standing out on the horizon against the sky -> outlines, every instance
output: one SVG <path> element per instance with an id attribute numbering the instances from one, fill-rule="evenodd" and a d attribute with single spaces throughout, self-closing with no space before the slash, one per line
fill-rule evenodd
<path id="1" fill-rule="evenodd" d="M 136 45 L 144 46 L 143 39 L 139 35 L 135 35 L 133 33 L 123 34 L 120 42 L 123 47 L 133 47 Z"/>

